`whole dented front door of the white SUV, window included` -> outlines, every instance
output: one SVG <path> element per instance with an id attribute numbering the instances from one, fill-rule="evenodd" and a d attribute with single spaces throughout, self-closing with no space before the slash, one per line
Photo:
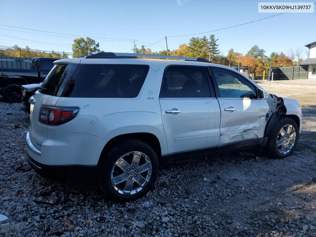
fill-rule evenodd
<path id="1" fill-rule="evenodd" d="M 221 138 L 218 146 L 245 140 L 260 143 L 269 110 L 266 100 L 258 99 L 256 87 L 232 70 L 210 67 L 216 97 L 221 107 Z"/>

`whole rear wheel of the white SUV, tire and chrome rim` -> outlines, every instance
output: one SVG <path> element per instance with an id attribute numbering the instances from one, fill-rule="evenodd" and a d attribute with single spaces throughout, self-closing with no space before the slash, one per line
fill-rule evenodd
<path id="1" fill-rule="evenodd" d="M 100 157 L 97 180 L 113 202 L 131 202 L 154 186 L 159 163 L 155 151 L 139 140 L 129 140 Z"/>

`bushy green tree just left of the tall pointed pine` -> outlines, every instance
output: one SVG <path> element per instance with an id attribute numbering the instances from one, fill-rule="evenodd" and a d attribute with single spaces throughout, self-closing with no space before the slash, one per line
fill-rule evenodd
<path id="1" fill-rule="evenodd" d="M 209 41 L 206 36 L 203 38 L 192 37 L 189 41 L 188 56 L 193 58 L 207 58 L 210 52 Z"/>

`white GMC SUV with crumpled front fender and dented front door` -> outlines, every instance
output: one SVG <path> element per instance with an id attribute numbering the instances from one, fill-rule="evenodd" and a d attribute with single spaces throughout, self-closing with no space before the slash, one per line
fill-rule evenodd
<path id="1" fill-rule="evenodd" d="M 175 158 L 252 146 L 283 158 L 299 139 L 299 101 L 205 59 L 101 52 L 54 64 L 30 98 L 28 162 L 43 176 L 96 176 L 114 201 L 143 197 Z"/>

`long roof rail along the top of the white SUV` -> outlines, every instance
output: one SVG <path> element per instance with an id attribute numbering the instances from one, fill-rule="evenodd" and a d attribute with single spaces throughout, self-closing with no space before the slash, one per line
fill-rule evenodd
<path id="1" fill-rule="evenodd" d="M 180 56 L 160 55 L 160 54 L 145 54 L 145 53 L 113 53 L 113 52 L 100 52 L 86 56 L 85 58 L 170 58 L 170 59 L 182 59 L 185 61 L 196 61 L 210 63 L 210 61 L 204 58 L 189 58 Z"/>

